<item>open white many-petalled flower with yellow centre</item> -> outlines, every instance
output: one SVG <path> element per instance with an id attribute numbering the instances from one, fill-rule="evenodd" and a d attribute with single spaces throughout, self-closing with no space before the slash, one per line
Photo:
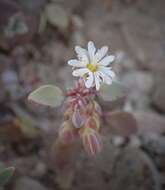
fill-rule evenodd
<path id="1" fill-rule="evenodd" d="M 71 59 L 68 64 L 73 66 L 73 76 L 83 77 L 85 80 L 85 86 L 87 88 L 96 87 L 99 90 L 100 84 L 111 84 L 112 79 L 115 77 L 115 73 L 110 67 L 107 67 L 113 60 L 114 56 L 107 55 L 108 47 L 103 46 L 96 51 L 93 42 L 88 42 L 88 50 L 75 47 L 78 59 Z M 75 69 L 78 67 L 78 69 Z"/>

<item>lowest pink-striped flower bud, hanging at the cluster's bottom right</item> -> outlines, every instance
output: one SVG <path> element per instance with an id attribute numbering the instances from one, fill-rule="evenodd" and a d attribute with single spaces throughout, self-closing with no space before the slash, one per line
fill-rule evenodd
<path id="1" fill-rule="evenodd" d="M 92 128 L 84 128 L 80 132 L 83 141 L 83 146 L 89 155 L 96 155 L 102 150 L 101 137 L 97 131 Z"/>

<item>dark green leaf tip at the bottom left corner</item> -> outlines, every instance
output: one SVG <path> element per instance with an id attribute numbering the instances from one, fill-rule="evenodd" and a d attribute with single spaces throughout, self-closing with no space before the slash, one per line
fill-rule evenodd
<path id="1" fill-rule="evenodd" d="M 13 173 L 14 173 L 14 167 L 9 167 L 9 168 L 5 168 L 1 170 L 0 171 L 0 186 L 5 185 L 9 181 Z"/>

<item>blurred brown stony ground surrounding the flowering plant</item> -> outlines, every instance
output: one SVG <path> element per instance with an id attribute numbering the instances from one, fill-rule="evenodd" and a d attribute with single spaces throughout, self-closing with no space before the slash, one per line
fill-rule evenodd
<path id="1" fill-rule="evenodd" d="M 16 168 L 4 189 L 165 189 L 164 21 L 164 0 L 0 0 L 0 165 Z M 120 108 L 106 121 L 102 153 L 79 149 L 60 169 L 53 145 L 62 114 L 27 95 L 71 86 L 67 60 L 89 40 L 116 55 L 128 95 L 101 103 Z"/>

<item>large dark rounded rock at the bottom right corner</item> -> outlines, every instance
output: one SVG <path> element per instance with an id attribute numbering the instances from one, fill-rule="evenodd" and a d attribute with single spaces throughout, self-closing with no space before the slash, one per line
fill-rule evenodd
<path id="1" fill-rule="evenodd" d="M 126 148 L 121 151 L 111 178 L 111 188 L 121 190 L 160 190 L 159 173 L 152 160 L 143 151 Z"/>

